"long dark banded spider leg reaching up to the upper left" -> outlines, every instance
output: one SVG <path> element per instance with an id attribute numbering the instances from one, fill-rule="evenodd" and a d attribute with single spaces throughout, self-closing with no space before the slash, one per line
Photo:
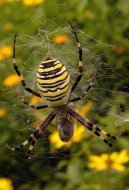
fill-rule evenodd
<path id="1" fill-rule="evenodd" d="M 25 82 L 23 76 L 21 75 L 21 73 L 20 73 L 20 71 L 19 71 L 19 69 L 18 69 L 18 67 L 17 67 L 17 64 L 16 64 L 16 34 L 15 34 L 15 36 L 14 36 L 14 44 L 13 44 L 13 67 L 14 67 L 14 70 L 15 70 L 15 72 L 17 73 L 18 77 L 20 78 L 21 84 L 22 84 L 22 86 L 24 87 L 24 89 L 25 89 L 27 92 L 29 92 L 29 93 L 31 93 L 31 94 L 33 94 L 33 95 L 38 96 L 38 97 L 41 98 L 41 95 L 40 95 L 39 93 L 33 91 L 32 89 L 30 89 L 30 88 L 26 85 L 26 82 Z"/>

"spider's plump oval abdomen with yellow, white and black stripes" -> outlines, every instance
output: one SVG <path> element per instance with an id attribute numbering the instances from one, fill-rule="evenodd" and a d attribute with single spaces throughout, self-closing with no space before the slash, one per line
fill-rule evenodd
<path id="1" fill-rule="evenodd" d="M 58 60 L 46 58 L 37 70 L 37 86 L 49 107 L 67 104 L 71 94 L 71 78 Z"/>

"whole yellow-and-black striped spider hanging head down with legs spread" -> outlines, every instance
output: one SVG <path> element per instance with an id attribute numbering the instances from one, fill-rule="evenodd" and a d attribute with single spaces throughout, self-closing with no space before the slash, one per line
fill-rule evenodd
<path id="1" fill-rule="evenodd" d="M 87 93 L 92 89 L 94 84 L 95 76 L 90 80 L 89 85 L 85 89 L 85 91 L 79 97 L 70 99 L 71 93 L 77 87 L 79 81 L 82 78 L 82 47 L 77 36 L 76 30 L 71 24 L 73 37 L 77 43 L 78 47 L 78 55 L 79 55 L 79 69 L 78 75 L 74 84 L 71 82 L 71 76 L 69 71 L 66 69 L 65 65 L 61 63 L 59 60 L 55 58 L 47 57 L 45 60 L 41 62 L 37 70 L 37 87 L 39 89 L 39 93 L 35 92 L 31 88 L 29 88 L 21 75 L 18 66 L 16 64 L 16 34 L 14 36 L 14 44 L 13 44 L 13 67 L 15 72 L 20 78 L 21 84 L 24 89 L 40 98 L 44 98 L 46 104 L 45 105 L 32 105 L 24 100 L 22 97 L 22 101 L 24 104 L 30 106 L 33 109 L 45 109 L 47 107 L 52 108 L 52 111 L 47 115 L 47 117 L 39 124 L 39 126 L 34 130 L 34 132 L 29 136 L 27 140 L 25 140 L 21 145 L 16 148 L 9 147 L 12 151 L 18 151 L 22 149 L 25 145 L 29 144 L 29 150 L 26 155 L 27 159 L 30 159 L 32 156 L 33 147 L 38 140 L 38 138 L 43 134 L 44 130 L 48 127 L 51 121 L 56 118 L 56 124 L 58 127 L 59 137 L 62 141 L 67 142 L 71 139 L 74 133 L 74 119 L 84 125 L 88 130 L 92 131 L 96 136 L 100 137 L 106 144 L 110 147 L 112 144 L 108 141 L 107 138 L 116 139 L 117 136 L 113 136 L 104 130 L 97 127 L 92 121 L 87 119 L 86 117 L 80 115 L 78 112 L 74 110 L 73 102 L 81 100 Z"/>

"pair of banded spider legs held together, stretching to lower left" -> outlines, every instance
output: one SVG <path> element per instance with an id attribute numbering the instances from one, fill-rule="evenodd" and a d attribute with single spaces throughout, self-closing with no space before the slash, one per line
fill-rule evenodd
<path id="1" fill-rule="evenodd" d="M 40 123 L 40 125 L 34 130 L 33 134 L 29 136 L 27 140 L 25 140 L 21 145 L 17 146 L 16 148 L 11 148 L 7 145 L 7 148 L 11 149 L 12 151 L 19 151 L 27 144 L 30 144 L 28 153 L 26 155 L 27 159 L 31 158 L 31 152 L 33 147 L 37 141 L 37 139 L 43 134 L 44 130 L 47 126 L 51 123 L 51 121 L 55 118 L 56 114 L 51 111 L 48 116 Z"/>

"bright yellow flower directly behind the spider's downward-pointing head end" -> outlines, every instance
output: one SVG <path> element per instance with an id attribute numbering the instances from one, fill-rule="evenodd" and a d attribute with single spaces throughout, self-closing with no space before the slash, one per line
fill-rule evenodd
<path id="1" fill-rule="evenodd" d="M 49 140 L 55 146 L 56 149 L 60 149 L 64 146 L 68 147 L 72 143 L 80 142 L 82 139 L 86 137 L 85 131 L 86 130 L 84 126 L 75 127 L 73 137 L 69 142 L 62 142 L 59 138 L 58 131 L 55 131 L 49 136 Z"/>

